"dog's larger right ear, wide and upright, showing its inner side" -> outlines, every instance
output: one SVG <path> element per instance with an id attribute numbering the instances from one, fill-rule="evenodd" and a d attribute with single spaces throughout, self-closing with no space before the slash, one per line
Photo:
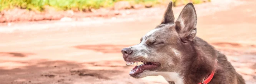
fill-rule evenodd
<path id="1" fill-rule="evenodd" d="M 180 13 L 175 28 L 183 42 L 193 41 L 196 36 L 197 16 L 193 3 L 188 3 Z"/>

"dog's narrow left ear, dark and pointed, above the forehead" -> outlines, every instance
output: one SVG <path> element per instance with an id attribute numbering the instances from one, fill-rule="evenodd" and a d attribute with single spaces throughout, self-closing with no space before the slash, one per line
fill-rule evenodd
<path id="1" fill-rule="evenodd" d="M 173 2 L 170 2 L 168 7 L 166 8 L 165 15 L 161 24 L 174 24 L 175 18 L 173 15 Z"/>

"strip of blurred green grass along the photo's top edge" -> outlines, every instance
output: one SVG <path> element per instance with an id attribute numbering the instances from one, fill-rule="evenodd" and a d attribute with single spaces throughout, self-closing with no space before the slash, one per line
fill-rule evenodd
<path id="1" fill-rule="evenodd" d="M 51 6 L 57 10 L 87 11 L 91 8 L 111 7 L 115 2 L 122 0 L 0 0 L 0 11 L 12 8 L 22 8 L 33 11 L 43 11 L 45 6 Z M 177 0 L 126 0 L 131 4 L 161 4 L 165 1 Z M 194 0 L 199 3 L 200 0 Z"/>

